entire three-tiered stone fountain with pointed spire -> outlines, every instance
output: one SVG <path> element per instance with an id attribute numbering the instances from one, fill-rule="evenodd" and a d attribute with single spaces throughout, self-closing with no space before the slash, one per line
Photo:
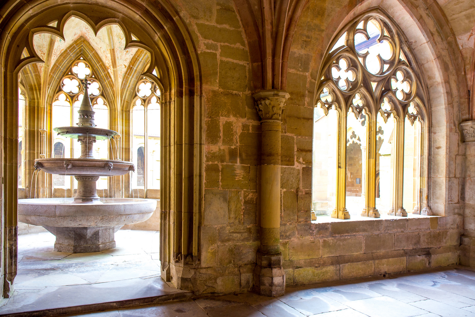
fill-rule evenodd
<path id="1" fill-rule="evenodd" d="M 74 198 L 37 198 L 18 201 L 18 220 L 42 226 L 56 236 L 55 251 L 81 253 L 115 248 L 114 233 L 126 224 L 146 221 L 157 201 L 133 198 L 100 198 L 96 182 L 100 176 L 119 176 L 135 170 L 133 163 L 100 160 L 93 156 L 96 140 L 110 139 L 117 132 L 95 127 L 94 110 L 84 86 L 84 98 L 77 111 L 78 126 L 58 127 L 58 134 L 76 138 L 81 143 L 79 158 L 42 158 L 35 160 L 35 170 L 70 175 L 77 180 Z"/>

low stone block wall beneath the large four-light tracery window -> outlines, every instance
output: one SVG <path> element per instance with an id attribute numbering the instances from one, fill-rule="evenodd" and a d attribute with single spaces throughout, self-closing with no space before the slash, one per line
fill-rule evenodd
<path id="1" fill-rule="evenodd" d="M 417 271 L 459 263 L 461 230 L 446 217 L 338 221 L 281 234 L 287 285 Z"/>

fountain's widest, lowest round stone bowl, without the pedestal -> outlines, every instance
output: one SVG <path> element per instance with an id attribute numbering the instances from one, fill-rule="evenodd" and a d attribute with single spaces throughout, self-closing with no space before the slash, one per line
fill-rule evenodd
<path id="1" fill-rule="evenodd" d="M 109 227 L 146 221 L 157 201 L 101 198 L 102 204 L 74 203 L 74 198 L 19 199 L 18 220 L 47 227 Z"/>

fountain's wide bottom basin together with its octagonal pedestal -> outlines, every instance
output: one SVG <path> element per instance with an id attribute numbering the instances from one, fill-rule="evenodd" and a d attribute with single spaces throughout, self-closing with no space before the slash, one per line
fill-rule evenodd
<path id="1" fill-rule="evenodd" d="M 55 251 L 99 252 L 115 248 L 114 233 L 146 221 L 156 207 L 151 199 L 101 198 L 92 204 L 75 203 L 74 198 L 20 199 L 18 220 L 54 234 Z"/>

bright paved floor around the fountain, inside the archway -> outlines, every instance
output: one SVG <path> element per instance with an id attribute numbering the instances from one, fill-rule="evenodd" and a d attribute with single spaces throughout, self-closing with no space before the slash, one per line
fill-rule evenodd
<path id="1" fill-rule="evenodd" d="M 160 278 L 159 232 L 119 230 L 116 248 L 55 252 L 49 232 L 19 235 L 15 292 L 0 315 L 183 293 Z"/>

